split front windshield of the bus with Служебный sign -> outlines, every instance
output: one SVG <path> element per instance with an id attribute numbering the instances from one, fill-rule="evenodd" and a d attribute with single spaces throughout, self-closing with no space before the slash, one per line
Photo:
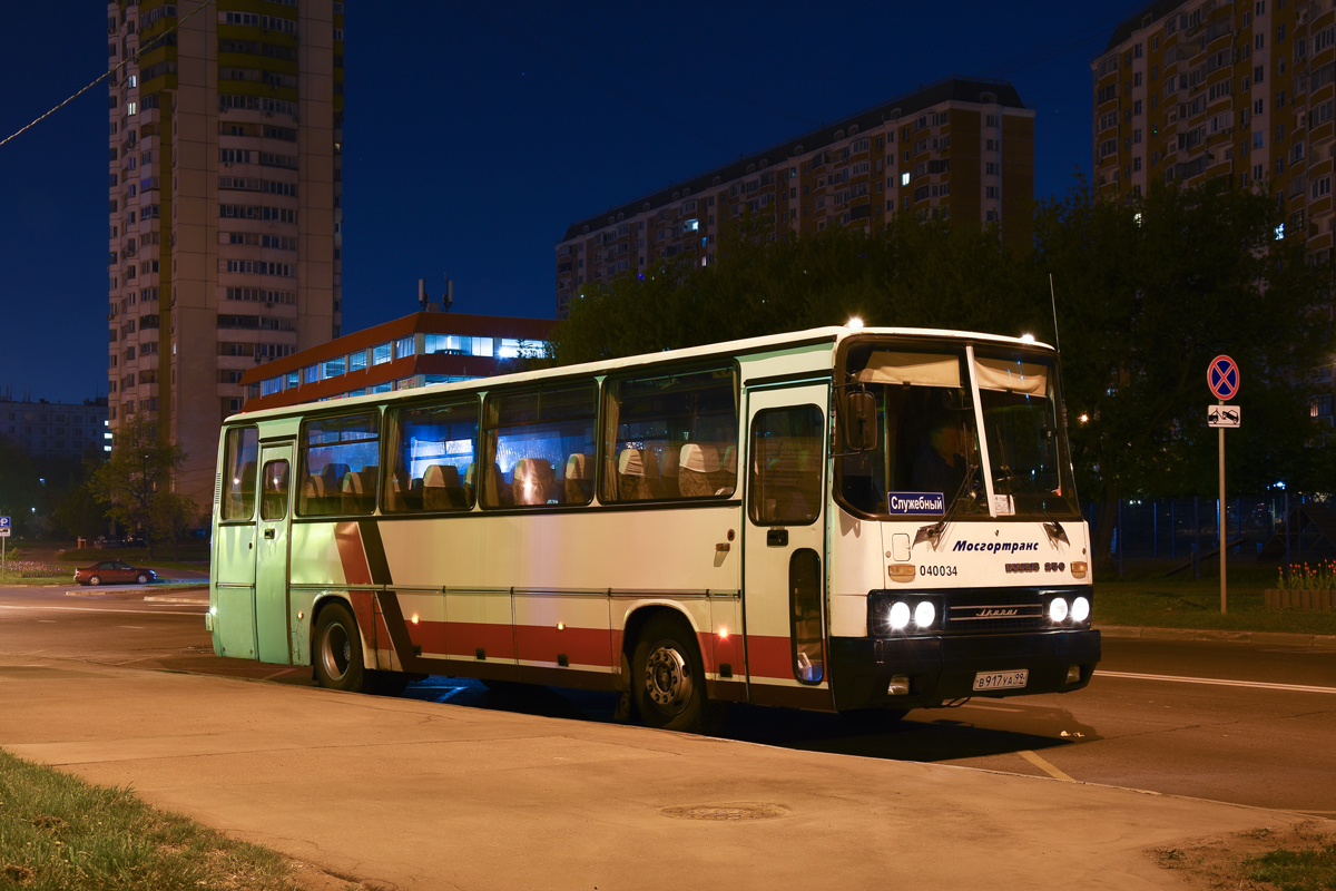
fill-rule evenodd
<path id="1" fill-rule="evenodd" d="M 963 345 L 852 345 L 843 379 L 876 399 L 878 435 L 835 461 L 842 504 L 887 518 L 989 516 L 987 472 L 993 516 L 1078 516 L 1053 358 L 979 347 L 974 375 L 986 462 Z"/>

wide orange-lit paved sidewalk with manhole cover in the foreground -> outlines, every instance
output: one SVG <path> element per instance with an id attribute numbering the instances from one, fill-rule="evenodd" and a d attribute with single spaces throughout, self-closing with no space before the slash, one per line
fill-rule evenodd
<path id="1" fill-rule="evenodd" d="M 1148 848 L 1303 819 L 83 663 L 0 657 L 0 699 L 21 757 L 395 888 L 1181 888 Z"/>

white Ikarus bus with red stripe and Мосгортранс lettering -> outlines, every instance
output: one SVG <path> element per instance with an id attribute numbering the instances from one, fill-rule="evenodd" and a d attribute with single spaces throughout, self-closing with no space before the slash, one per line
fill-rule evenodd
<path id="1" fill-rule="evenodd" d="M 1100 660 L 1039 343 L 816 329 L 243 413 L 218 460 L 214 649 L 325 687 L 621 691 L 701 729 Z"/>

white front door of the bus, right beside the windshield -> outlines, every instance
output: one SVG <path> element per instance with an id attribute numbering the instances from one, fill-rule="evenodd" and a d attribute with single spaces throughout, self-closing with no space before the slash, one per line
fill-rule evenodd
<path id="1" fill-rule="evenodd" d="M 830 383 L 747 390 L 743 608 L 754 703 L 831 709 L 826 655 Z"/>

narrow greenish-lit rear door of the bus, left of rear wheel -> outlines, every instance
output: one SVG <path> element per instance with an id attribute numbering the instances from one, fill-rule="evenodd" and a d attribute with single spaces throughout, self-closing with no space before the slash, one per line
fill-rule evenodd
<path id="1" fill-rule="evenodd" d="M 287 564 L 293 443 L 261 446 L 259 528 L 255 533 L 255 637 L 259 661 L 293 661 L 289 641 Z"/>

